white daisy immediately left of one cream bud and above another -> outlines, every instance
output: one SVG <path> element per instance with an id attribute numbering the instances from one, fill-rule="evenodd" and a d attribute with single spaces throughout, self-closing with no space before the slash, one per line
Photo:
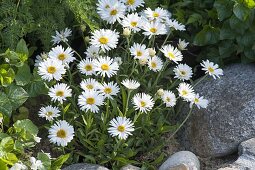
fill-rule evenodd
<path id="1" fill-rule="evenodd" d="M 130 53 L 135 59 L 148 59 L 149 51 L 144 44 L 134 43 L 130 48 Z"/>

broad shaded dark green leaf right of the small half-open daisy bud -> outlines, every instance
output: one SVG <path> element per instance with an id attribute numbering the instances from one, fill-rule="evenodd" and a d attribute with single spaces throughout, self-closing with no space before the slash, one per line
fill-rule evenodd
<path id="1" fill-rule="evenodd" d="M 209 25 L 204 26 L 194 38 L 194 44 L 203 46 L 207 44 L 215 44 L 220 39 L 220 30 Z"/>

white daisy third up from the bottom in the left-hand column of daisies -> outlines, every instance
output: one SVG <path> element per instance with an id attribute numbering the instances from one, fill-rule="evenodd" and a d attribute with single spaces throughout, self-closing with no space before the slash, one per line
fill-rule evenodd
<path id="1" fill-rule="evenodd" d="M 72 89 L 65 83 L 58 83 L 49 89 L 48 95 L 51 101 L 59 101 L 62 104 L 67 97 L 72 96 Z"/>

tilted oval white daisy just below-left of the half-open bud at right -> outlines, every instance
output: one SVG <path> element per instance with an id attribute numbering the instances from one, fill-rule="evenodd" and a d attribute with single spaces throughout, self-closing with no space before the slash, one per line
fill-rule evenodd
<path id="1" fill-rule="evenodd" d="M 177 49 L 174 48 L 173 46 L 169 45 L 164 45 L 160 51 L 164 53 L 164 56 L 168 58 L 170 61 L 173 61 L 175 63 L 178 63 L 179 61 L 182 61 L 183 56 L 182 53 Z"/>

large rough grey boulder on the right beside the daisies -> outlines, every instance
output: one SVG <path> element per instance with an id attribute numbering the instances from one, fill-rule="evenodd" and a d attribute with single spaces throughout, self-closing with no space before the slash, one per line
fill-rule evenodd
<path id="1" fill-rule="evenodd" d="M 195 87 L 209 105 L 196 108 L 180 133 L 187 149 L 201 157 L 220 157 L 237 152 L 242 141 L 255 136 L 254 73 L 254 64 L 234 64 L 220 79 L 210 77 Z"/>

